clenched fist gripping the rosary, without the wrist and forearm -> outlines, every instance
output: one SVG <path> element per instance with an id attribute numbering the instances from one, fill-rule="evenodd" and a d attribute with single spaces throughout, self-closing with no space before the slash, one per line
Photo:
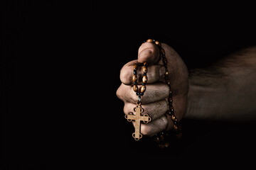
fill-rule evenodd
<path id="1" fill-rule="evenodd" d="M 188 95 L 188 69 L 177 52 L 164 43 L 167 59 L 167 68 L 169 79 L 171 81 L 171 91 L 173 94 L 174 113 L 178 121 L 183 118 L 186 113 L 187 95 Z M 142 96 L 143 114 L 148 114 L 152 121 L 148 124 L 141 125 L 142 135 L 153 136 L 162 130 L 170 130 L 173 122 L 168 111 L 167 98 L 169 96 L 169 86 L 164 80 L 165 68 L 161 60 L 159 60 L 159 47 L 151 42 L 145 42 L 139 47 L 139 55 L 137 60 L 128 62 L 122 67 L 120 72 L 121 86 L 117 89 L 117 96 L 124 101 L 124 113 L 132 112 L 137 106 L 138 96 L 132 89 L 133 67 L 137 62 L 147 62 L 147 84 L 144 96 Z M 142 67 L 137 70 L 138 85 L 142 84 Z M 132 122 L 134 125 L 134 121 Z"/>

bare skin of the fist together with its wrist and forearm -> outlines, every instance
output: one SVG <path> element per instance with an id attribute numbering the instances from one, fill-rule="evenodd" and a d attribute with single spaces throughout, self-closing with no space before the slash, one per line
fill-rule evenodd
<path id="1" fill-rule="evenodd" d="M 176 118 L 196 120 L 256 120 L 256 47 L 235 52 L 210 67 L 189 70 L 177 52 L 164 43 L 173 106 Z M 148 81 L 142 96 L 144 114 L 152 121 L 141 125 L 142 135 L 153 136 L 170 130 L 173 123 L 168 111 L 169 86 L 164 81 L 164 64 L 159 60 L 159 48 L 151 42 L 139 47 L 137 60 L 122 67 L 117 96 L 124 101 L 124 113 L 133 110 L 138 97 L 132 89 L 133 66 L 148 62 Z M 189 77 L 188 77 L 189 73 Z M 142 68 L 137 70 L 138 84 L 142 84 Z M 133 122 L 134 123 L 134 122 Z"/>

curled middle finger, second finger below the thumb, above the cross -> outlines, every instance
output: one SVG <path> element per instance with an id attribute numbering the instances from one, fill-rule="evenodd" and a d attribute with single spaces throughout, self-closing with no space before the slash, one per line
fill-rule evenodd
<path id="1" fill-rule="evenodd" d="M 140 88 L 141 86 L 139 86 Z M 164 82 L 146 85 L 146 92 L 142 96 L 143 104 L 164 100 L 169 96 L 169 86 Z M 117 97 L 124 102 L 137 103 L 138 96 L 134 92 L 132 86 L 121 84 L 117 89 Z"/>

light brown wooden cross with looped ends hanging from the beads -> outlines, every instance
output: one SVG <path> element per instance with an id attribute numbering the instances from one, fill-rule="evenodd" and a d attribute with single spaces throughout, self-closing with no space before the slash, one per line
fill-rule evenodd
<path id="1" fill-rule="evenodd" d="M 142 138 L 142 134 L 140 133 L 140 122 L 143 121 L 144 123 L 149 123 L 151 121 L 151 118 L 148 114 L 141 115 L 141 113 L 144 112 L 144 108 L 142 108 L 142 106 L 135 107 L 134 111 L 136 112 L 136 115 L 130 112 L 128 115 L 125 115 L 124 118 L 126 118 L 128 122 L 135 120 L 135 132 L 132 133 L 132 137 L 134 137 L 134 140 L 138 141 Z"/>

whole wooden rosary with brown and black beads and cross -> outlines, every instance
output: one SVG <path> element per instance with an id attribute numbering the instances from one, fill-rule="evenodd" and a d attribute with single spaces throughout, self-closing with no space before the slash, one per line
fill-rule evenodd
<path id="1" fill-rule="evenodd" d="M 157 45 L 157 47 L 159 47 L 160 60 L 162 60 L 162 62 L 164 63 L 164 68 L 165 68 L 164 79 L 165 79 L 166 84 L 169 86 L 169 97 L 167 100 L 168 106 L 169 106 L 169 111 L 166 112 L 166 115 L 171 116 L 171 120 L 174 123 L 173 130 L 176 133 L 176 137 L 180 138 L 182 136 L 181 125 L 178 123 L 178 119 L 176 118 L 176 116 L 174 114 L 174 106 L 172 104 L 173 99 L 172 99 L 172 92 L 171 92 L 171 81 L 169 80 L 169 72 L 167 69 L 167 60 L 165 57 L 165 51 L 161 47 L 160 42 L 157 40 L 149 39 L 149 40 L 146 40 L 145 42 L 152 42 L 155 45 Z M 138 69 L 138 67 L 143 67 L 143 69 L 142 69 L 142 72 L 143 72 L 142 87 L 140 89 L 137 84 L 137 69 Z M 134 64 L 134 67 L 132 70 L 133 71 L 133 77 L 132 77 L 133 85 L 132 86 L 133 86 L 134 92 L 138 96 L 137 106 L 134 107 L 134 109 L 133 109 L 133 111 L 136 114 L 134 115 L 133 112 L 130 112 L 129 114 L 124 116 L 124 118 L 126 118 L 129 122 L 131 122 L 132 120 L 135 121 L 135 126 L 134 126 L 135 132 L 132 133 L 132 137 L 134 137 L 134 140 L 137 140 L 137 141 L 142 138 L 142 134 L 140 133 L 141 121 L 143 121 L 143 123 L 149 123 L 152 120 L 148 114 L 142 115 L 142 113 L 144 112 L 144 108 L 142 108 L 141 98 L 146 91 L 147 67 L 148 67 L 148 64 L 146 62 Z M 169 135 L 169 132 L 167 132 L 166 130 L 154 135 L 154 140 L 156 142 L 156 145 L 159 148 L 164 149 L 164 148 L 169 147 L 170 144 L 168 141 L 166 141 L 166 137 L 168 135 Z"/>

